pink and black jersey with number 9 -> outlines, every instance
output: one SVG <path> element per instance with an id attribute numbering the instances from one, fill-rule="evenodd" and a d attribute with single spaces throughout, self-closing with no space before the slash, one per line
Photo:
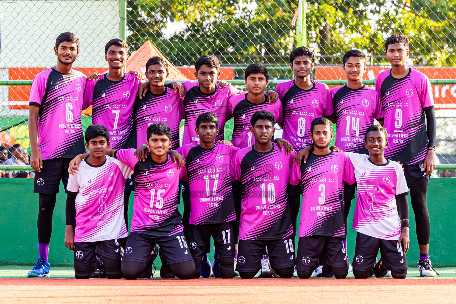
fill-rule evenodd
<path id="1" fill-rule="evenodd" d="M 375 89 L 382 97 L 388 131 L 385 158 L 405 165 L 422 163 L 428 148 L 424 109 L 434 107 L 429 78 L 409 67 L 409 74 L 398 79 L 389 69 L 378 74 Z"/>

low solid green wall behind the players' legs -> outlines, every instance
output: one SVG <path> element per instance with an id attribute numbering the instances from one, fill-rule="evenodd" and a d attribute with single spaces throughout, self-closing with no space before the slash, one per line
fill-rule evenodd
<path id="1" fill-rule="evenodd" d="M 36 215 L 38 195 L 33 193 L 33 179 L 0 179 L 4 189 L 0 209 L 0 261 L 13 263 L 33 263 L 38 258 Z M 428 191 L 428 209 L 430 213 L 430 258 L 435 266 L 456 265 L 456 178 L 435 178 L 430 180 Z M 65 200 L 63 186 L 57 194 L 54 210 L 53 232 L 49 248 L 51 264 L 72 263 L 73 252 L 64 243 L 65 235 Z M 410 200 L 409 200 L 410 201 Z M 355 201 L 352 203 L 353 215 Z M 130 197 L 130 216 L 132 214 L 133 195 Z M 179 205 L 182 212 L 182 204 Z M 415 217 L 410 206 L 410 249 L 407 253 L 409 266 L 416 266 L 418 245 L 415 235 Z M 356 232 L 348 224 L 348 256 L 354 254 Z M 297 242 L 297 240 L 296 240 Z M 212 257 L 210 258 L 212 260 Z M 160 266 L 159 259 L 155 263 Z"/>

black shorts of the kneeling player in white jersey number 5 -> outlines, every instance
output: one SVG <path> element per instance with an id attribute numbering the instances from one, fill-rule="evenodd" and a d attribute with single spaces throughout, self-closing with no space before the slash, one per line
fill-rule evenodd
<path id="1" fill-rule="evenodd" d="M 85 266 L 97 261 L 95 250 L 99 256 L 120 261 L 120 244 L 114 240 L 98 242 L 74 243 L 74 265 Z"/>

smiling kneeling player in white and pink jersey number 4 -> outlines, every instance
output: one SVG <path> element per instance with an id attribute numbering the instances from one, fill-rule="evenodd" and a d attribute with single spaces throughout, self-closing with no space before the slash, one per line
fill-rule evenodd
<path id="1" fill-rule="evenodd" d="M 401 165 L 383 157 L 387 136 L 385 128 L 370 126 L 364 135 L 369 155 L 347 153 L 358 183 L 353 216 L 353 229 L 358 232 L 352 263 L 355 278 L 370 276 L 378 249 L 382 258 L 374 268 L 375 277 L 384 277 L 388 270 L 393 278 L 407 275 L 409 189 Z"/>

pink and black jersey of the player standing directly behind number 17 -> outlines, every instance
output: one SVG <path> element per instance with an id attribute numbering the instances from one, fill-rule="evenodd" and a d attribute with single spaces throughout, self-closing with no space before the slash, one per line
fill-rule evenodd
<path id="1" fill-rule="evenodd" d="M 182 144 L 199 144 L 199 136 L 195 131 L 195 126 L 198 116 L 205 112 L 210 112 L 217 116 L 218 135 L 215 138 L 215 142 L 223 140 L 225 138 L 228 98 L 239 94 L 239 91 L 233 86 L 218 88 L 217 85 L 214 93 L 207 95 L 201 92 L 198 82 L 186 81 L 182 85 L 186 92 L 184 97 L 185 125 Z"/>

